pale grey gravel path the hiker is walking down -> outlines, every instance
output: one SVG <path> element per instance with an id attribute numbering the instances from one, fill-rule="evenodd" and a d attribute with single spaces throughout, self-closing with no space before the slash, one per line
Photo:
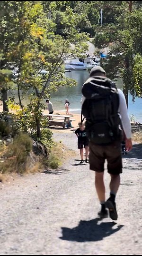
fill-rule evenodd
<path id="1" fill-rule="evenodd" d="M 80 166 L 75 134 L 53 136 L 77 157 L 56 172 L 0 185 L 0 255 L 142 255 L 142 145 L 124 156 L 113 222 L 97 217 L 94 172 Z M 108 197 L 107 172 L 105 181 Z"/>

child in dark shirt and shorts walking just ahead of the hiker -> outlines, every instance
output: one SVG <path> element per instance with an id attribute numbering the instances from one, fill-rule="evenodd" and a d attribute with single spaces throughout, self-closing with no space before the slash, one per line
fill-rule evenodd
<path id="1" fill-rule="evenodd" d="M 86 130 L 83 123 L 79 122 L 79 128 L 75 131 L 76 136 L 78 137 L 78 148 L 80 149 L 80 164 L 83 163 L 83 148 L 85 148 L 85 162 L 88 163 L 89 155 L 89 140 L 86 136 Z"/>

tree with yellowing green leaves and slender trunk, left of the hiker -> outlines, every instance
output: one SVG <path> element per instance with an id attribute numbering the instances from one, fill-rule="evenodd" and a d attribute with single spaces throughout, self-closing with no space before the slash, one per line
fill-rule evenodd
<path id="1" fill-rule="evenodd" d="M 17 84 L 22 111 L 25 111 L 22 97 L 29 95 L 27 111 L 32 113 L 33 119 L 30 129 L 35 123 L 36 135 L 41 138 L 42 100 L 61 86 L 75 84 L 75 81 L 64 78 L 64 61 L 80 57 L 88 49 L 85 43 L 88 36 L 78 27 L 80 15 L 73 12 L 66 1 L 0 3 L 1 8 L 8 8 L 0 14 L 3 24 L 0 38 L 3 62 L 0 67 L 16 71 L 10 81 Z M 45 74 L 41 73 L 43 69 L 47 71 Z"/>

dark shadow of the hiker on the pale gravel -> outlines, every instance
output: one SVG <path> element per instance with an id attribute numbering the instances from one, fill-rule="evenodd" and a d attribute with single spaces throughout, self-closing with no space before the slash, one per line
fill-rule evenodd
<path id="1" fill-rule="evenodd" d="M 100 241 L 104 237 L 110 236 L 119 231 L 124 225 L 118 225 L 116 228 L 115 222 L 102 222 L 98 223 L 101 218 L 95 218 L 92 220 L 80 220 L 78 226 L 73 228 L 62 227 L 62 236 L 59 237 L 62 240 L 77 241 L 77 242 L 91 242 Z"/>

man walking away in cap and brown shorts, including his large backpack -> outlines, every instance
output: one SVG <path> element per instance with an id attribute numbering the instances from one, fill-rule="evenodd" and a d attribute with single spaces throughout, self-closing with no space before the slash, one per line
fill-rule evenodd
<path id="1" fill-rule="evenodd" d="M 101 210 L 100 217 L 117 220 L 115 195 L 122 173 L 121 125 L 126 136 L 126 150 L 132 149 L 131 124 L 124 93 L 106 77 L 101 67 L 91 69 L 89 79 L 82 86 L 82 115 L 86 118 L 86 132 L 89 138 L 89 167 L 95 171 L 95 187 Z M 84 119 L 83 118 L 83 119 Z M 110 197 L 105 199 L 104 163 L 111 176 Z"/>

